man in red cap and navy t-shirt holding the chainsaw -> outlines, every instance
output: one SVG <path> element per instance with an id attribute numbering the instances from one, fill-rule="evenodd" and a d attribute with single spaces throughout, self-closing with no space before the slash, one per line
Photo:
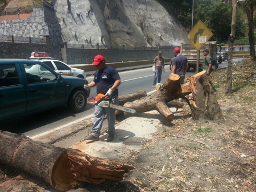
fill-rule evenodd
<path id="1" fill-rule="evenodd" d="M 97 55 L 92 63 L 96 66 L 97 70 L 94 73 L 94 79 L 90 84 L 85 86 L 85 89 L 97 86 L 97 94 L 102 93 L 108 95 L 110 103 L 117 104 L 118 90 L 117 87 L 122 83 L 121 78 L 112 66 L 108 66 L 105 63 L 105 58 L 101 55 Z M 85 137 L 85 140 L 98 140 L 101 135 L 101 127 L 103 120 L 107 115 L 108 118 L 108 139 L 110 142 L 114 139 L 115 133 L 115 110 L 113 108 L 105 108 L 95 106 L 94 122 L 92 128 L 92 134 Z"/>

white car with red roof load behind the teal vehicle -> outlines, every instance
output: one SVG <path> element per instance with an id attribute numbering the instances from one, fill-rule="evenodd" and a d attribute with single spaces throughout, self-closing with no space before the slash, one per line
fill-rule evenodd
<path id="1" fill-rule="evenodd" d="M 30 58 L 28 59 L 43 62 L 44 64 L 49 66 L 49 68 L 61 74 L 61 76 L 72 76 L 86 79 L 86 74 L 84 70 L 72 68 L 62 61 L 55 60 L 49 57 L 46 52 L 32 52 Z"/>

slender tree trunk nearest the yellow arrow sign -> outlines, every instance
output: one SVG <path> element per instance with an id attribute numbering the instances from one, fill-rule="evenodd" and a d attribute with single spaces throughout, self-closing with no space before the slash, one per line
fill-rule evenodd
<path id="1" fill-rule="evenodd" d="M 229 35 L 229 53 L 228 53 L 228 71 L 226 81 L 226 93 L 232 91 L 232 71 L 233 71 L 233 45 L 236 35 L 236 15 L 237 15 L 237 0 L 232 0 L 232 24 L 231 34 Z"/>

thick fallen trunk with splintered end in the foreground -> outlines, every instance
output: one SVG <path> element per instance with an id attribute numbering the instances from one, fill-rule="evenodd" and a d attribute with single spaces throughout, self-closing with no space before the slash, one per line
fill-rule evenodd
<path id="1" fill-rule="evenodd" d="M 99 159 L 74 149 L 54 147 L 23 135 L 0 131 L 0 162 L 67 191 L 82 182 L 121 181 L 133 166 Z"/>

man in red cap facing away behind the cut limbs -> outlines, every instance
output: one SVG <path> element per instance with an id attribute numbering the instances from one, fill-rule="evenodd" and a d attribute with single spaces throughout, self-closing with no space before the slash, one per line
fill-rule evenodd
<path id="1" fill-rule="evenodd" d="M 172 73 L 180 76 L 180 84 L 184 84 L 186 70 L 188 69 L 188 59 L 184 55 L 180 55 L 180 48 L 175 47 L 174 59 L 172 60 Z"/>

